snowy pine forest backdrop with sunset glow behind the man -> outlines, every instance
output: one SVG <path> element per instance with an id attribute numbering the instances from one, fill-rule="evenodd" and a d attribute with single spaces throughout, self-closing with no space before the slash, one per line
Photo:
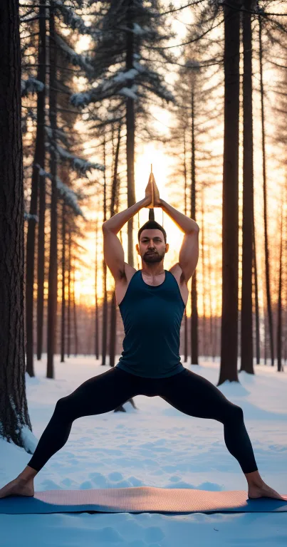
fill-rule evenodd
<path id="1" fill-rule="evenodd" d="M 286 30 L 279 0 L 1 6 L 1 434 L 20 442 L 24 373 L 43 356 L 51 379 L 55 355 L 115 366 L 124 331 L 101 226 L 144 197 L 151 163 L 200 228 L 183 363 L 219 358 L 218 385 L 260 363 L 283 373 Z M 148 214 L 119 234 L 136 269 Z M 169 267 L 183 234 L 149 218 L 167 229 Z"/>

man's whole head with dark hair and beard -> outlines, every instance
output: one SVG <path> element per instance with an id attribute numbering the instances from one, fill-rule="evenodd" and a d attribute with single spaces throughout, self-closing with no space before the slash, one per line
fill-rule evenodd
<path id="1" fill-rule="evenodd" d="M 147 264 L 163 261 L 169 249 L 165 229 L 155 220 L 148 220 L 137 233 L 137 253 Z"/>

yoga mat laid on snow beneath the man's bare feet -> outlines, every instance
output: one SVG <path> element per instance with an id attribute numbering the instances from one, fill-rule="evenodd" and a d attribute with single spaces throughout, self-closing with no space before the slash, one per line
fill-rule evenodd
<path id="1" fill-rule="evenodd" d="M 135 488 L 46 490 L 33 497 L 0 499 L 0 514 L 39 513 L 277 513 L 287 511 L 287 501 L 248 499 L 247 491 L 207 491 Z"/>

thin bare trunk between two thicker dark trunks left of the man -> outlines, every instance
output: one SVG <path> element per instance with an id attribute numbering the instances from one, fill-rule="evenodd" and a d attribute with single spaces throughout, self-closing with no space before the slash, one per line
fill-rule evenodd
<path id="1" fill-rule="evenodd" d="M 46 85 L 46 0 L 41 1 L 39 8 L 39 53 L 38 80 Z M 44 309 L 44 277 L 45 277 L 45 212 L 46 212 L 46 179 L 42 171 L 45 169 L 45 89 L 38 95 L 37 101 L 37 134 L 39 147 L 37 162 L 39 165 L 39 207 L 38 207 L 38 264 L 37 264 L 37 359 L 42 356 L 43 346 L 43 309 Z M 40 145 L 40 141 L 42 146 Z"/>

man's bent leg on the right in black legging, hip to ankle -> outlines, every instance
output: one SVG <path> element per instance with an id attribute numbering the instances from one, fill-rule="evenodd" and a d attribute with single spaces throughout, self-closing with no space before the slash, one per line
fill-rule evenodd
<path id="1" fill-rule="evenodd" d="M 180 412 L 224 424 L 226 447 L 237 459 L 242 471 L 252 473 L 258 470 L 244 424 L 243 410 L 226 399 L 212 382 L 186 369 L 161 380 L 160 386 L 158 395 Z"/>

